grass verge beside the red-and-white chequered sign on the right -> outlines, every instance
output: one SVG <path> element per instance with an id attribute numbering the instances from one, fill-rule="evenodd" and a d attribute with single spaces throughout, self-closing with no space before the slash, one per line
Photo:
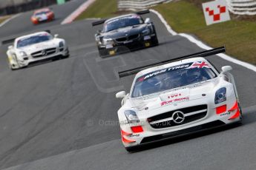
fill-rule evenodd
<path id="1" fill-rule="evenodd" d="M 188 1 L 176 1 L 154 7 L 178 33 L 197 35 L 211 47 L 226 45 L 227 54 L 256 64 L 256 23 L 226 21 L 206 26 L 203 11 Z"/>

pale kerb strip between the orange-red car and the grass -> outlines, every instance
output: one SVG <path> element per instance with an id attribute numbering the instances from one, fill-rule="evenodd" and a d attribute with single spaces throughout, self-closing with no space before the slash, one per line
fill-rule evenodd
<path id="1" fill-rule="evenodd" d="M 71 23 L 73 20 L 76 19 L 76 17 L 78 17 L 82 12 L 84 12 L 91 4 L 93 4 L 94 1 L 96 0 L 85 1 L 85 3 L 81 4 L 79 8 L 77 8 L 67 18 L 65 18 L 64 21 L 62 21 L 62 24 Z"/>

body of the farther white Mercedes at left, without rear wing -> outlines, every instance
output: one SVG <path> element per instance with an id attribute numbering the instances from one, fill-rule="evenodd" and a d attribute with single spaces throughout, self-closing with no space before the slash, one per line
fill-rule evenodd
<path id="1" fill-rule="evenodd" d="M 65 40 L 47 32 L 16 38 L 14 44 L 7 50 L 10 69 L 19 69 L 39 61 L 68 58 L 68 56 L 69 51 Z"/>

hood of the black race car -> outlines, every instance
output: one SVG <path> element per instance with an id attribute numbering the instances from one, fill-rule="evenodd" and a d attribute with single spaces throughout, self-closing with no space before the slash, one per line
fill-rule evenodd
<path id="1" fill-rule="evenodd" d="M 117 30 L 110 31 L 108 33 L 103 33 L 102 35 L 106 38 L 113 38 L 113 39 L 125 37 L 128 35 L 141 33 L 142 30 L 145 30 L 146 26 L 147 24 L 140 24 L 140 25 L 131 26 L 131 27 L 119 28 Z"/>

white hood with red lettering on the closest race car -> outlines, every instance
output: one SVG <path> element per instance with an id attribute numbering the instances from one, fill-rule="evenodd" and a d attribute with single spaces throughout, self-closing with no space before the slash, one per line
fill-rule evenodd
<path id="1" fill-rule="evenodd" d="M 154 113 L 163 108 L 173 110 L 179 103 L 208 98 L 211 93 L 209 89 L 213 89 L 216 84 L 217 81 L 209 81 L 163 92 L 151 98 L 131 99 L 128 105 L 137 110 L 138 115 L 148 115 L 150 112 Z"/>

